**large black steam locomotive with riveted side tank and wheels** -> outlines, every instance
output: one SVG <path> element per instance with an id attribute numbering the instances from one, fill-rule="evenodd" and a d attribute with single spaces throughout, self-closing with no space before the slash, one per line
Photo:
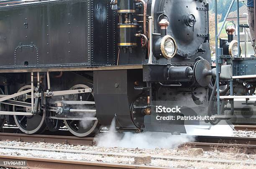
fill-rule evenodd
<path id="1" fill-rule="evenodd" d="M 28 0 L 0 5 L 0 125 L 92 136 L 186 132 L 156 106 L 207 114 L 205 0 Z M 162 113 L 161 116 L 169 116 Z M 176 114 L 177 115 L 177 114 Z"/>

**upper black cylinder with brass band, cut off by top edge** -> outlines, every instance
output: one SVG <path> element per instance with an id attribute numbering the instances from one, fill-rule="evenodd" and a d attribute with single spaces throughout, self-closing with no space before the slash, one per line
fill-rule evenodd
<path id="1" fill-rule="evenodd" d="M 118 0 L 118 13 L 135 13 L 134 0 Z"/>

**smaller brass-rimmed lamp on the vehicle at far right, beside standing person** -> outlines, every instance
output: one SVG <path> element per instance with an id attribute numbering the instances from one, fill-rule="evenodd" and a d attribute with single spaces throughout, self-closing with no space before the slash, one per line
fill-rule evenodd
<path id="1" fill-rule="evenodd" d="M 238 42 L 234 40 L 236 28 L 233 25 L 226 27 L 226 32 L 228 34 L 228 40 L 220 39 L 220 48 L 223 48 L 223 55 L 230 55 L 232 57 L 238 56 Z M 241 51 L 241 47 L 240 47 Z"/>

